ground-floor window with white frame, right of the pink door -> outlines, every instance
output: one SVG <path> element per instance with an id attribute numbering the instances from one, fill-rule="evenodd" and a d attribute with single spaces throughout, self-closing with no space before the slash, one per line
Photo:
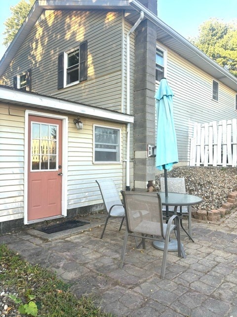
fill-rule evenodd
<path id="1" fill-rule="evenodd" d="M 94 162 L 120 162 L 120 129 L 94 125 Z"/>

